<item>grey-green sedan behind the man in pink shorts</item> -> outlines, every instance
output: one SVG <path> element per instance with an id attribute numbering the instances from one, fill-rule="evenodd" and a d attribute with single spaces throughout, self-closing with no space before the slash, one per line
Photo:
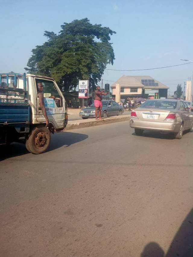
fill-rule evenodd
<path id="1" fill-rule="evenodd" d="M 104 118 L 108 116 L 113 116 L 113 115 L 122 115 L 122 113 L 124 112 L 123 106 L 119 105 L 117 102 L 113 100 L 102 101 L 102 105 L 103 107 L 101 111 L 101 116 Z M 95 117 L 94 103 L 91 104 L 89 107 L 82 109 L 79 115 L 83 119 L 94 118 Z"/>

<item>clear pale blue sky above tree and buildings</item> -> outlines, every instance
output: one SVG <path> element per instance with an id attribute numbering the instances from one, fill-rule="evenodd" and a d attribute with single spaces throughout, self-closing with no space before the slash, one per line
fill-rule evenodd
<path id="1" fill-rule="evenodd" d="M 60 25 L 87 17 L 92 24 L 115 30 L 111 42 L 114 69 L 140 69 L 193 60 L 193 1 L 62 1 L 0 0 L 0 73 L 24 72 L 31 50 L 46 41 L 45 30 L 58 33 Z M 105 71 L 110 84 L 123 74 L 149 75 L 176 89 L 192 76 L 193 64 L 154 71 Z"/>

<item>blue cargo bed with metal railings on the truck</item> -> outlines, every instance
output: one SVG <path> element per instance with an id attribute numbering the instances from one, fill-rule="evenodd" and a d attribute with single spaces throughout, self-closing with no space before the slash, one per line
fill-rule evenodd
<path id="1" fill-rule="evenodd" d="M 0 74 L 0 124 L 29 122 L 26 74 Z"/>

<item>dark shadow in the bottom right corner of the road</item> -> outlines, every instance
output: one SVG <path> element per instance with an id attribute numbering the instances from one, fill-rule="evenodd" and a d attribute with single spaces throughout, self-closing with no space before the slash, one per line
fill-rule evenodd
<path id="1" fill-rule="evenodd" d="M 148 243 L 141 257 L 192 257 L 193 256 L 193 209 L 186 216 L 177 231 L 169 250 L 164 255 L 162 248 L 155 242 Z"/>

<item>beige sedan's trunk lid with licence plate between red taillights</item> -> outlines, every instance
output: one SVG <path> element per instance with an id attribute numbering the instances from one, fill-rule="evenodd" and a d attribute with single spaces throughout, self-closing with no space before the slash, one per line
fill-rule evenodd
<path id="1" fill-rule="evenodd" d="M 168 114 L 172 112 L 171 109 L 160 109 L 160 108 L 138 108 L 135 109 L 138 119 L 140 120 L 157 120 L 164 121 Z"/>

